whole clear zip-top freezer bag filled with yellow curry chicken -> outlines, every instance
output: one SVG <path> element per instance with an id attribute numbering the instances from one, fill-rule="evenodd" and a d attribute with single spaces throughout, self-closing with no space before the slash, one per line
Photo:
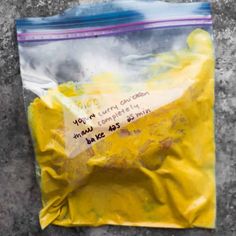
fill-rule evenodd
<path id="1" fill-rule="evenodd" d="M 215 226 L 209 3 L 19 19 L 40 224 Z"/>

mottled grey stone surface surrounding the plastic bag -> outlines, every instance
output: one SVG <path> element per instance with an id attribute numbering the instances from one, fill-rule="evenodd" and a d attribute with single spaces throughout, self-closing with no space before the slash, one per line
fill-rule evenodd
<path id="1" fill-rule="evenodd" d="M 40 230 L 40 193 L 23 107 L 14 19 L 56 14 L 79 2 L 0 0 L 0 236 L 236 236 L 235 0 L 212 0 L 216 45 L 217 229 L 50 226 Z"/>

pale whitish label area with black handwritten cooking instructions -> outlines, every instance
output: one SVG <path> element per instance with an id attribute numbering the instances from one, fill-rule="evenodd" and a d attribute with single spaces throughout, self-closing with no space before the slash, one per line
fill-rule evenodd
<path id="1" fill-rule="evenodd" d="M 181 97 L 181 87 L 70 98 L 64 108 L 65 147 L 73 158 L 112 133 Z M 145 127 L 142 127 L 145 128 Z M 122 138 L 122 137 L 121 137 Z"/>

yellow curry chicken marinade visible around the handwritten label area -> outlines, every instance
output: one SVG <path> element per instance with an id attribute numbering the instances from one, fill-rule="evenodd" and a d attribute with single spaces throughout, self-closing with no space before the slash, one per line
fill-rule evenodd
<path id="1" fill-rule="evenodd" d="M 213 45 L 200 29 L 188 36 L 187 45 L 157 55 L 149 68 L 152 78 L 145 81 L 150 90 L 167 91 L 191 78 L 182 96 L 73 158 L 65 150 L 64 108 L 75 96 L 112 96 L 119 90 L 112 72 L 91 84 L 61 84 L 30 104 L 42 228 L 215 226 Z"/>

